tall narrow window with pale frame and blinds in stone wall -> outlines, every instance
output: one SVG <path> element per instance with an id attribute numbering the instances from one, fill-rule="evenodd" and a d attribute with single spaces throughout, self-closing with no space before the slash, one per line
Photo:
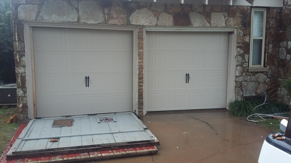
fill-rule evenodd
<path id="1" fill-rule="evenodd" d="M 250 39 L 250 67 L 264 66 L 266 9 L 252 9 L 252 26 Z"/>

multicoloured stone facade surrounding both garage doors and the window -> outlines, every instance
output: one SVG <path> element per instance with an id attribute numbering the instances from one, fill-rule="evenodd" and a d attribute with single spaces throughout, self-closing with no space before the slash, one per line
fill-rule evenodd
<path id="1" fill-rule="evenodd" d="M 138 26 L 138 113 L 143 115 L 144 26 L 236 27 L 235 99 L 268 91 L 269 100 L 289 103 L 281 88 L 290 75 L 291 1 L 267 8 L 266 70 L 249 72 L 250 6 L 188 5 L 113 0 L 12 0 L 18 122 L 28 121 L 24 21 Z"/>

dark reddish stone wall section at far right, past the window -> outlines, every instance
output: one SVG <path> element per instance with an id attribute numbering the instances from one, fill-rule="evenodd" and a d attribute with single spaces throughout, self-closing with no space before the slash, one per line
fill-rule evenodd
<path id="1" fill-rule="evenodd" d="M 274 93 L 272 98 L 276 98 L 277 102 L 289 104 L 290 97 L 281 84 L 284 79 L 291 77 L 291 1 L 283 0 L 283 8 L 271 8 L 269 22 L 268 46 L 271 57 L 267 63 L 274 65 L 277 72 L 273 76 L 277 94 Z"/>

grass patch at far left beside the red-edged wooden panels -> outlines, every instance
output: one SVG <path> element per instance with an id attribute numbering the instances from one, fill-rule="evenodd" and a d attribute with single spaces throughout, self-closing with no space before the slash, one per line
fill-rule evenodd
<path id="1" fill-rule="evenodd" d="M 7 144 L 9 144 L 18 129 L 18 123 L 6 123 L 6 121 L 16 112 L 16 108 L 2 107 L 0 109 L 0 155 L 3 154 Z"/>

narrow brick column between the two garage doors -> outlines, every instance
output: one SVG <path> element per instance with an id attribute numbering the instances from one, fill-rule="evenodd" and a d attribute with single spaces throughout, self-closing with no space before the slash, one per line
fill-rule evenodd
<path id="1" fill-rule="evenodd" d="M 138 27 L 138 115 L 143 116 L 143 27 Z"/>

